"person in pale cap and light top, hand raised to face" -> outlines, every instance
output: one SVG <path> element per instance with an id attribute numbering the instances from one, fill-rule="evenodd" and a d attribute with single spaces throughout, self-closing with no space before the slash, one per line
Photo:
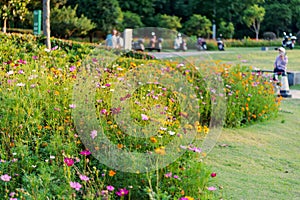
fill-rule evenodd
<path id="1" fill-rule="evenodd" d="M 274 62 L 274 77 L 273 80 L 278 80 L 278 75 L 282 75 L 287 70 L 288 56 L 286 55 L 283 47 L 278 48 L 279 55 L 276 57 Z"/>

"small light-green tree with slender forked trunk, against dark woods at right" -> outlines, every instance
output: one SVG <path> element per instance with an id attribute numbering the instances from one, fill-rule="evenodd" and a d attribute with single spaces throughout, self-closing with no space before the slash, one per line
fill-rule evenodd
<path id="1" fill-rule="evenodd" d="M 258 34 L 260 30 L 260 23 L 264 20 L 265 9 L 257 4 L 250 6 L 244 11 L 243 21 L 244 23 L 255 32 L 256 40 L 258 40 Z"/>

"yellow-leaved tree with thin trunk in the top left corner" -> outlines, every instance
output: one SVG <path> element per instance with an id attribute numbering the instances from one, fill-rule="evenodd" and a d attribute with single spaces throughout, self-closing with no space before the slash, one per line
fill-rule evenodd
<path id="1" fill-rule="evenodd" d="M 0 0 L 0 14 L 3 19 L 3 32 L 6 33 L 9 19 L 19 18 L 24 20 L 28 12 L 27 5 L 30 0 Z"/>

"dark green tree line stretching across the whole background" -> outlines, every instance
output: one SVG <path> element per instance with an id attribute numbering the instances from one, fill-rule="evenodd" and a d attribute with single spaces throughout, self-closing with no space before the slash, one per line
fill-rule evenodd
<path id="1" fill-rule="evenodd" d="M 2 8 L 5 2 L 0 0 Z M 30 14 L 35 9 L 42 9 L 42 1 L 31 0 L 27 8 L 26 20 L 20 21 L 14 16 L 11 18 L 13 26 L 30 27 Z M 261 14 L 263 9 L 259 24 L 250 23 L 258 20 L 253 19 L 258 12 L 255 8 L 259 8 Z M 254 38 L 256 34 L 262 37 L 264 32 L 274 32 L 281 37 L 283 31 L 296 34 L 300 30 L 300 0 L 51 0 L 51 9 L 54 11 L 51 18 L 55 20 L 51 32 L 58 37 L 92 36 L 95 33 L 104 37 L 113 28 L 122 31 L 157 26 L 187 35 L 193 35 L 191 27 L 195 27 L 198 30 L 194 35 L 201 33 L 209 37 L 213 23 L 217 26 L 217 34 L 222 33 L 227 38 Z M 3 13 L 9 14 L 9 11 L 1 9 L 1 25 Z M 208 27 L 197 24 L 195 19 L 205 22 Z M 68 33 L 62 33 L 66 27 L 59 27 L 60 24 L 70 23 L 73 26 L 67 27 Z M 254 25 L 259 28 L 258 33 L 251 31 Z"/>

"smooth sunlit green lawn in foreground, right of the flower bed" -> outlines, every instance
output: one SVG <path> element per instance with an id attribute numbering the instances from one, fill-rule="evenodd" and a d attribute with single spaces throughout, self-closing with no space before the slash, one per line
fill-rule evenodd
<path id="1" fill-rule="evenodd" d="M 300 100 L 289 99 L 275 120 L 223 131 L 206 162 L 224 199 L 300 199 L 299 116 Z"/>

